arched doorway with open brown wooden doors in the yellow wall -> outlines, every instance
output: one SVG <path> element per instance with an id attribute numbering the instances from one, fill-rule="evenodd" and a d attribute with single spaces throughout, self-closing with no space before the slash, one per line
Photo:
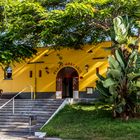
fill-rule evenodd
<path id="1" fill-rule="evenodd" d="M 56 77 L 56 98 L 78 98 L 79 75 L 72 67 L 62 68 Z"/>

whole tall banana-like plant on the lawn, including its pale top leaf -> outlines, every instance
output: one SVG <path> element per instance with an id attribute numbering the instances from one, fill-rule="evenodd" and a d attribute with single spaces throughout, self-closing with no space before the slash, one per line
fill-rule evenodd
<path id="1" fill-rule="evenodd" d="M 115 19 L 115 35 L 117 46 L 108 57 L 109 67 L 106 76 L 97 73 L 96 89 L 101 100 L 112 107 L 113 117 L 133 117 L 137 108 L 137 95 L 140 91 L 140 54 L 139 39 L 129 39 L 128 26 L 125 24 L 122 32 L 123 18 Z M 117 21 L 119 20 L 119 21 Z M 121 20 L 121 21 L 120 21 Z M 118 24 L 118 25 L 116 25 Z M 116 28 L 117 27 L 117 28 Z"/>

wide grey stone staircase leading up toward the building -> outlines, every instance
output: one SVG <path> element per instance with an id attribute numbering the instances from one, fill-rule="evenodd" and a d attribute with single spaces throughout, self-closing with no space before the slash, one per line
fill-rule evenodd
<path id="1" fill-rule="evenodd" d="M 8 100 L 1 99 L 0 106 L 6 101 Z M 63 99 L 15 99 L 14 115 L 12 102 L 0 110 L 0 132 L 34 133 L 52 116 L 63 101 Z M 32 121 L 29 121 L 31 119 Z"/>

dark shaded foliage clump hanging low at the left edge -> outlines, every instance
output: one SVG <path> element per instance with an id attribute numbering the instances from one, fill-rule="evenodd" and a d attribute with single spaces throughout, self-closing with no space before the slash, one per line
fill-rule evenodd
<path id="1" fill-rule="evenodd" d="M 26 43 L 12 42 L 6 33 L 0 35 L 0 65 L 3 69 L 13 62 L 21 62 L 30 58 L 37 52 L 29 42 Z"/>

